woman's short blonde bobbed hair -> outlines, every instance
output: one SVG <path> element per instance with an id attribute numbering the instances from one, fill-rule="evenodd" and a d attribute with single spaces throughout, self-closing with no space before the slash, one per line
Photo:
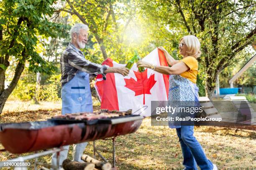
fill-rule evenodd
<path id="1" fill-rule="evenodd" d="M 200 57 L 201 44 L 197 37 L 195 37 L 194 35 L 186 35 L 182 37 L 182 39 L 180 39 L 179 42 L 181 42 L 181 40 L 184 40 L 184 43 L 187 45 L 188 50 L 186 52 L 188 53 L 189 56 L 192 56 L 195 58 Z"/>

